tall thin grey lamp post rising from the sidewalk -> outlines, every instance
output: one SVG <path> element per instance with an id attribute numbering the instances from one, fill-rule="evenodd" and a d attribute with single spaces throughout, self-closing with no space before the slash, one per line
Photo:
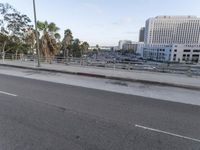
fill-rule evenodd
<path id="1" fill-rule="evenodd" d="M 36 32 L 36 51 L 38 57 L 38 67 L 40 67 L 40 48 L 39 48 L 39 35 L 37 29 L 37 15 L 36 15 L 36 8 L 35 8 L 35 0 L 33 0 L 33 11 L 34 11 L 34 20 L 35 20 L 35 32 Z"/>

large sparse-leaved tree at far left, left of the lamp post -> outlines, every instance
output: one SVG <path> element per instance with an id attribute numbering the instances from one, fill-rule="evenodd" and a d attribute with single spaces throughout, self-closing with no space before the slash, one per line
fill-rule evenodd
<path id="1" fill-rule="evenodd" d="M 3 3 L 0 3 L 0 15 L 1 52 L 4 60 L 5 53 L 11 50 L 7 49 L 9 43 L 15 42 L 16 51 L 24 44 L 24 31 L 31 27 L 31 20 L 11 5 Z"/>

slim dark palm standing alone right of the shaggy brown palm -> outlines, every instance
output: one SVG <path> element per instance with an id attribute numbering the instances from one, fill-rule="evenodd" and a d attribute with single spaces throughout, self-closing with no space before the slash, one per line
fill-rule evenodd
<path id="1" fill-rule="evenodd" d="M 65 30 L 64 38 L 62 41 L 62 48 L 63 48 L 63 56 L 68 57 L 69 54 L 72 55 L 72 42 L 73 42 L 73 35 L 70 29 Z"/>

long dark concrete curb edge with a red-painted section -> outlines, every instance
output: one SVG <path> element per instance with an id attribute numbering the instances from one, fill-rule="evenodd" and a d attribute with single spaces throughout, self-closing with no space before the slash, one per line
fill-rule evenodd
<path id="1" fill-rule="evenodd" d="M 31 69 L 31 70 L 36 70 L 36 71 L 47 71 L 47 72 L 71 74 L 71 75 L 81 75 L 81 76 L 87 76 L 87 77 L 112 79 L 112 80 L 120 80 L 120 81 L 128 81 L 128 82 L 137 82 L 137 83 L 144 83 L 144 84 L 154 84 L 154 85 L 158 85 L 158 86 L 171 86 L 171 87 L 178 87 L 178 88 L 198 90 L 198 91 L 200 90 L 200 87 L 191 86 L 191 85 L 173 84 L 173 83 L 149 81 L 149 80 L 141 80 L 141 79 L 130 79 L 130 78 L 106 76 L 106 75 L 93 74 L 93 73 L 71 72 L 71 71 L 62 71 L 62 70 L 54 70 L 54 69 L 46 69 L 46 68 L 34 68 L 34 67 L 17 66 L 17 65 L 10 65 L 10 64 L 0 64 L 0 66 L 20 68 L 20 69 Z"/>

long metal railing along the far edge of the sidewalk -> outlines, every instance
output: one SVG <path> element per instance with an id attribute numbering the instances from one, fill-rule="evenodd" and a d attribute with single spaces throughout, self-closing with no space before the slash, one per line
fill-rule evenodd
<path id="1" fill-rule="evenodd" d="M 18 62 L 29 62 L 36 66 L 37 57 L 33 55 L 6 55 L 5 59 Z M 186 74 L 188 76 L 200 76 L 200 65 L 189 64 L 167 64 L 167 63 L 149 63 L 142 61 L 119 61 L 116 59 L 91 59 L 74 57 L 51 57 L 40 58 L 41 64 L 58 64 L 82 67 L 95 67 L 113 70 L 141 70 L 151 72 L 163 72 L 174 74 Z"/>

